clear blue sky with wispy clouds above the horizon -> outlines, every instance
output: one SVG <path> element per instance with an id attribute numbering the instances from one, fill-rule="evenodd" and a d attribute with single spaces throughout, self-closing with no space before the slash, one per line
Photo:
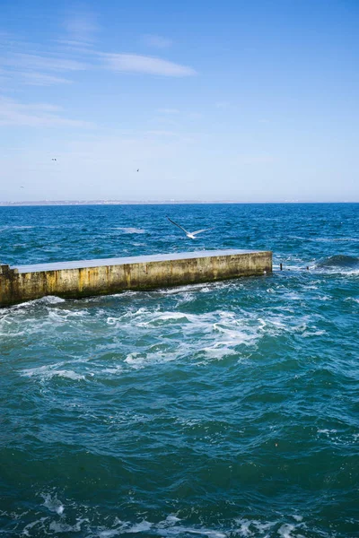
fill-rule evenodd
<path id="1" fill-rule="evenodd" d="M 0 0 L 0 202 L 359 202 L 358 28 L 358 0 Z"/>

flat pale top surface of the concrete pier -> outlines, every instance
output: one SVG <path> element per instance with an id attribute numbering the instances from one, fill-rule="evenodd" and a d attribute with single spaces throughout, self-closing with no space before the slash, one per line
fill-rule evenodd
<path id="1" fill-rule="evenodd" d="M 98 260 L 75 260 L 73 262 L 55 262 L 51 264 L 13 265 L 11 269 L 17 269 L 19 273 L 39 273 L 41 271 L 61 271 L 64 269 L 86 269 L 87 267 L 102 267 L 104 265 L 150 264 L 151 262 L 168 262 L 213 256 L 238 256 L 241 254 L 258 252 L 267 251 L 241 250 L 236 248 L 223 250 L 198 250 L 196 252 L 172 252 L 171 254 L 153 254 L 149 256 L 127 256 L 102 258 Z"/>

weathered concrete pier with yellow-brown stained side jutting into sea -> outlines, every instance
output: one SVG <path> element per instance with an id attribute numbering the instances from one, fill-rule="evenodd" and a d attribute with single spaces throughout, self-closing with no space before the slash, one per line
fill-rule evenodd
<path id="1" fill-rule="evenodd" d="M 91 297 L 270 273 L 272 253 L 206 250 L 40 265 L 0 265 L 0 307 L 39 299 Z"/>

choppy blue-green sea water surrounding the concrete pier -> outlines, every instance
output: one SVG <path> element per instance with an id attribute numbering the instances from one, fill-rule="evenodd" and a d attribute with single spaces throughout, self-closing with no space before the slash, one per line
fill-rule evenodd
<path id="1" fill-rule="evenodd" d="M 359 536 L 358 230 L 359 204 L 1 207 L 1 263 L 274 273 L 1 309 L 0 535 Z"/>

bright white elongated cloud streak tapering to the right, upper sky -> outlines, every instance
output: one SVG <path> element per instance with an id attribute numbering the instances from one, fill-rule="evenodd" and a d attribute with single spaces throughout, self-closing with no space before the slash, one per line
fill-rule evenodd
<path id="1" fill-rule="evenodd" d="M 153 56 L 104 54 L 103 59 L 109 69 L 122 73 L 159 74 L 174 77 L 196 74 L 196 71 L 188 65 L 175 64 Z"/>

